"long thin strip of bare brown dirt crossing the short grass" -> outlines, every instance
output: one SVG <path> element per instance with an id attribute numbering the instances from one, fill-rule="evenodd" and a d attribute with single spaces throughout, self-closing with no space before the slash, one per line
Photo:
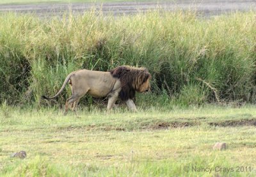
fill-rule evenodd
<path id="1" fill-rule="evenodd" d="M 68 125 L 64 127 L 52 127 L 52 131 L 74 131 L 74 129 L 83 129 L 83 131 L 143 131 L 143 130 L 164 130 L 177 129 L 184 127 L 199 126 L 208 124 L 214 127 L 238 127 L 238 126 L 256 126 L 256 118 L 240 120 L 224 120 L 220 122 L 207 122 L 200 119 L 193 120 L 138 120 L 135 122 L 124 122 L 123 124 L 96 124 L 96 125 Z"/>

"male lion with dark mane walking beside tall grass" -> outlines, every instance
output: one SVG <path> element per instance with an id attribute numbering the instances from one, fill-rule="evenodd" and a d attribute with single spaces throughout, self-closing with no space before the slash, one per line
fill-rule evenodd
<path id="1" fill-rule="evenodd" d="M 150 89 L 150 78 L 151 74 L 144 67 L 119 66 L 109 72 L 80 69 L 68 74 L 60 91 L 55 96 L 42 96 L 42 98 L 57 97 L 69 81 L 72 95 L 66 101 L 64 115 L 67 114 L 69 104 L 75 111 L 79 99 L 86 93 L 97 98 L 108 97 L 107 110 L 111 110 L 119 96 L 129 109 L 137 111 L 132 101 L 135 91 L 147 92 Z"/>

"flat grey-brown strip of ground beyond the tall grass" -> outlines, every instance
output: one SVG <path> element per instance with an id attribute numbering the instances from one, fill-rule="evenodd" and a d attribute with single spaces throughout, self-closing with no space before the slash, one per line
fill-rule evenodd
<path id="1" fill-rule="evenodd" d="M 133 14 L 139 11 L 147 11 L 156 8 L 162 10 L 197 10 L 205 16 L 220 15 L 231 11 L 249 11 L 256 10 L 255 0 L 179 0 L 177 3 L 166 1 L 162 3 L 144 2 L 144 3 L 47 3 L 47 4 L 12 4 L 0 5 L 0 12 L 16 11 L 19 13 L 36 13 L 42 17 L 49 17 L 52 14 L 61 15 L 64 11 L 72 10 L 73 13 L 83 13 L 84 11 L 95 8 L 102 9 L 106 14 L 113 13 Z"/>

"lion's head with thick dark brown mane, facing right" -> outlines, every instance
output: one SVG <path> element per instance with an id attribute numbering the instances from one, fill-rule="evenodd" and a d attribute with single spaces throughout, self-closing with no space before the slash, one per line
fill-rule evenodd
<path id="1" fill-rule="evenodd" d="M 119 96 L 123 101 L 133 99 L 135 91 L 147 92 L 150 89 L 151 74 L 144 67 L 118 66 L 110 73 L 121 81 L 122 90 Z"/>

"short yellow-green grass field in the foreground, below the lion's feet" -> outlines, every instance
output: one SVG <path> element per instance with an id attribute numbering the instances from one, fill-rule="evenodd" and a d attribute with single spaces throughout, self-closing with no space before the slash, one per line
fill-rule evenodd
<path id="1" fill-rule="evenodd" d="M 2 104 L 0 176 L 255 176 L 255 106 L 130 113 Z M 216 142 L 227 150 L 212 150 Z M 11 158 L 24 150 L 26 159 Z"/>

